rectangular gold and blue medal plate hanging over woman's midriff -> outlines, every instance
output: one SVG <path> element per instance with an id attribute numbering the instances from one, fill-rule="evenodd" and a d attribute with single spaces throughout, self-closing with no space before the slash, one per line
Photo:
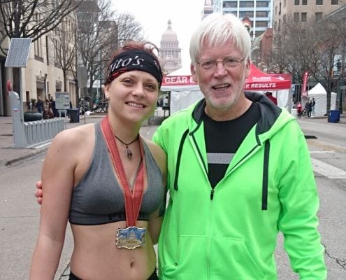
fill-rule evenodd
<path id="1" fill-rule="evenodd" d="M 145 244 L 145 228 L 129 227 L 117 230 L 117 248 L 134 249 Z"/>

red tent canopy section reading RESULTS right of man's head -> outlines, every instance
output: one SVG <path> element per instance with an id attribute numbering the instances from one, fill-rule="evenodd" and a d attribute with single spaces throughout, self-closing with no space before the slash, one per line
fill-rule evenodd
<path id="1" fill-rule="evenodd" d="M 290 90 L 291 75 L 267 74 L 259 70 L 254 64 L 250 66 L 250 76 L 246 79 L 245 90 Z"/>

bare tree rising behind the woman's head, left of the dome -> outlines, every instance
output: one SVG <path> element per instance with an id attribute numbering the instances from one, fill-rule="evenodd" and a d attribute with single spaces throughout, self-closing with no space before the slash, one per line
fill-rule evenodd
<path id="1" fill-rule="evenodd" d="M 101 80 L 114 50 L 125 41 L 143 39 L 142 27 L 132 15 L 117 14 L 110 0 L 99 1 L 99 12 L 78 19 L 78 66 L 87 67 L 89 92 Z"/>

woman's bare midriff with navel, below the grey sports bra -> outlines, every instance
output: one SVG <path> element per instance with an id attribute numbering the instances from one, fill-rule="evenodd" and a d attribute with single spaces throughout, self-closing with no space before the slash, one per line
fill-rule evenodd
<path id="1" fill-rule="evenodd" d="M 146 221 L 138 221 L 138 228 L 147 228 Z M 106 225 L 71 225 L 75 240 L 71 256 L 71 272 L 83 280 L 145 280 L 154 272 L 156 254 L 149 232 L 142 247 L 117 248 L 118 228 L 126 228 L 124 221 Z"/>

